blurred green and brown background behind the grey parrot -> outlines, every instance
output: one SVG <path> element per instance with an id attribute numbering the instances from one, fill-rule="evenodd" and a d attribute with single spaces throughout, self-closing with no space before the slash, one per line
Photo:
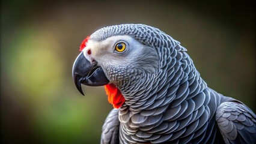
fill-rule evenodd
<path id="1" fill-rule="evenodd" d="M 1 143 L 99 143 L 112 109 L 76 90 L 72 65 L 107 25 L 155 26 L 187 48 L 208 85 L 255 112 L 253 1 L 1 1 Z"/>

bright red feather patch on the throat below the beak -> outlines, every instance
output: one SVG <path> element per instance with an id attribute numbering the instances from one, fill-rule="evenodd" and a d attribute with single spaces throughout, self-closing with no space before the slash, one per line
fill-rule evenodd
<path id="1" fill-rule="evenodd" d="M 111 103 L 115 109 L 121 107 L 124 101 L 126 101 L 114 84 L 105 85 L 105 91 L 106 95 L 108 95 L 108 102 Z"/>

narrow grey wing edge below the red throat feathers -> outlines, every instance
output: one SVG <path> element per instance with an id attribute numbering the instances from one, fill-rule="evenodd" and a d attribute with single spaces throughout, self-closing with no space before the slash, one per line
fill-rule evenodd
<path id="1" fill-rule="evenodd" d="M 102 137 L 100 143 L 119 143 L 119 125 L 118 109 L 112 109 L 109 112 L 103 126 L 102 126 Z"/>

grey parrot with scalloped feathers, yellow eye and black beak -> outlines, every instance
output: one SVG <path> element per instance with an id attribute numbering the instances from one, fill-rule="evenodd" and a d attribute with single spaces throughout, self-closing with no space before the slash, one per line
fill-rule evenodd
<path id="1" fill-rule="evenodd" d="M 256 115 L 209 88 L 168 34 L 144 24 L 105 26 L 82 41 L 75 86 L 104 86 L 114 107 L 100 143 L 256 143 Z"/>

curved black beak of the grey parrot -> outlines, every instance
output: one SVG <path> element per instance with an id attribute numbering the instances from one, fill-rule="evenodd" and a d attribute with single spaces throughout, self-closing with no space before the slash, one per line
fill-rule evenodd
<path id="1" fill-rule="evenodd" d="M 82 52 L 74 62 L 72 76 L 76 88 L 82 95 L 84 95 L 84 92 L 82 91 L 81 84 L 88 86 L 103 86 L 109 83 L 102 67 L 97 66 L 97 62 L 91 64 Z"/>

